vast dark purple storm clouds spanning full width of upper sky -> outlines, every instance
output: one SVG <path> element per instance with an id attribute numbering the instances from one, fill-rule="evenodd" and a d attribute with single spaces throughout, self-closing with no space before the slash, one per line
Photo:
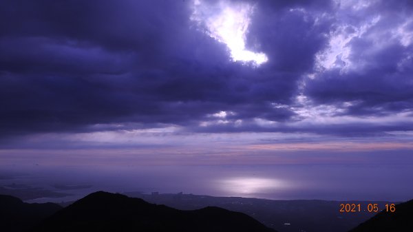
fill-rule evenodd
<path id="1" fill-rule="evenodd" d="M 1 136 L 169 124 L 189 131 L 337 131 L 288 124 L 303 117 L 303 93 L 314 106 L 352 102 L 337 115 L 411 109 L 412 45 L 371 40 L 387 38 L 377 33 L 407 18 L 409 1 L 348 14 L 337 1 L 251 3 L 246 46 L 268 56 L 257 68 L 230 61 L 226 45 L 190 20 L 191 1 L 1 1 Z M 401 9 L 405 14 L 394 17 Z M 317 54 L 328 49 L 332 32 L 342 23 L 357 28 L 374 12 L 382 14 L 379 23 L 348 43 L 350 60 L 365 61 L 363 67 L 318 72 Z M 233 112 L 224 118 L 229 123 L 211 117 L 221 111 Z M 286 124 L 262 127 L 257 118 Z M 348 128 L 356 127 L 365 128 Z"/>

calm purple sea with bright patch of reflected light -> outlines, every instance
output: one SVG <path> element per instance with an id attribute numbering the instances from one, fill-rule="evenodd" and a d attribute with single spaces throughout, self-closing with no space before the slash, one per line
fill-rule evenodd
<path id="1" fill-rule="evenodd" d="M 0 166 L 0 185 L 19 184 L 70 193 L 94 191 L 193 193 L 277 200 L 388 200 L 413 198 L 412 165 Z M 85 189 L 53 186 L 90 184 Z"/>

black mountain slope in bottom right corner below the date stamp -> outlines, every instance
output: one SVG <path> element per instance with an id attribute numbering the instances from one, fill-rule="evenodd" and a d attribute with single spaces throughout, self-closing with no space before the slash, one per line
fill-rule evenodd
<path id="1" fill-rule="evenodd" d="M 359 224 L 349 232 L 412 232 L 413 231 L 413 200 L 396 204 L 394 213 L 385 210 L 373 218 Z"/>

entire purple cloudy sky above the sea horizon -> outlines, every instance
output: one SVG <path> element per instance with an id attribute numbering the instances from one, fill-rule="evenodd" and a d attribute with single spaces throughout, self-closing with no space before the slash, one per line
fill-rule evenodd
<path id="1" fill-rule="evenodd" d="M 409 0 L 1 1 L 0 164 L 392 166 L 402 188 L 412 15 Z"/>

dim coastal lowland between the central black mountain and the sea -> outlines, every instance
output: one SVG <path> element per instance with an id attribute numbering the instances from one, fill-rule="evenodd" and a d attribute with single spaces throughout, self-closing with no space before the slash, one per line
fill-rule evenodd
<path id="1" fill-rule="evenodd" d="M 125 195 L 141 198 L 153 204 L 165 204 L 182 210 L 202 209 L 215 206 L 230 211 L 245 213 L 262 224 L 282 232 L 347 232 L 362 222 L 372 218 L 375 213 L 340 213 L 341 203 L 389 204 L 389 202 L 331 200 L 267 200 L 240 197 L 213 197 L 183 193 L 144 194 L 127 192 Z"/>

